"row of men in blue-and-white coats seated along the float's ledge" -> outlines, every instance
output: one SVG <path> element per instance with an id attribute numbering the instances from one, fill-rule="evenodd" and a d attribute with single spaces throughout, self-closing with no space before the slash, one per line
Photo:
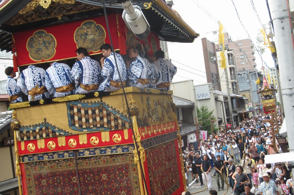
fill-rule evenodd
<path id="1" fill-rule="evenodd" d="M 59 62 L 51 62 L 46 71 L 29 65 L 14 79 L 16 73 L 13 67 L 7 67 L 9 101 L 22 102 L 21 92 L 28 96 L 29 101 L 36 101 L 94 91 L 114 91 L 122 85 L 169 90 L 171 79 L 177 72 L 176 66 L 164 59 L 162 50 L 156 51 L 153 63 L 143 57 L 144 51 L 139 52 L 135 47 L 128 50 L 125 60 L 113 52 L 109 44 L 103 44 L 100 50 L 103 54 L 101 65 L 88 56 L 85 48 L 80 47 L 76 50 L 78 61 L 72 68 Z"/>

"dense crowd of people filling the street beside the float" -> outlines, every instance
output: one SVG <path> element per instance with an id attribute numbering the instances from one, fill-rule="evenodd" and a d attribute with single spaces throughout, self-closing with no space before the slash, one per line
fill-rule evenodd
<path id="1" fill-rule="evenodd" d="M 287 164 L 265 164 L 264 160 L 265 155 L 272 152 L 268 146 L 273 142 L 272 137 L 279 136 L 278 131 L 274 131 L 281 125 L 280 113 L 277 115 L 273 127 L 263 123 L 268 116 L 259 114 L 233 129 L 219 129 L 219 135 L 201 141 L 197 149 L 191 143 L 183 150 L 186 181 L 191 175 L 193 182 L 200 180 L 200 185 L 206 184 L 210 194 L 217 194 L 216 190 L 211 190 L 213 175 L 218 191 L 224 190 L 227 183 L 237 195 L 252 195 L 253 191 L 261 195 L 294 195 L 292 172 Z M 273 135 L 273 132 L 276 133 Z M 278 142 L 276 145 L 277 153 L 283 153 Z M 213 167 L 214 173 L 211 173 Z"/>

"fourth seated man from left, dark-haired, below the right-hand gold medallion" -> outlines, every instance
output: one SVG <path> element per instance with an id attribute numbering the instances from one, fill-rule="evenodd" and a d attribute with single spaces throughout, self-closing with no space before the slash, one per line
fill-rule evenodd
<path id="1" fill-rule="evenodd" d="M 75 93 L 85 94 L 97 91 L 101 74 L 99 63 L 88 57 L 87 49 L 83 47 L 76 50 L 76 57 L 78 61 L 71 69 L 71 78 L 76 85 Z"/>

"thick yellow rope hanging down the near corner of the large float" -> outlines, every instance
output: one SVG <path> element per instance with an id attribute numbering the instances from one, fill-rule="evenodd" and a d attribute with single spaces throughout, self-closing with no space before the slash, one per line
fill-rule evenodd
<path id="1" fill-rule="evenodd" d="M 140 152 L 141 165 L 142 165 L 142 168 L 143 168 L 143 174 L 145 175 L 145 170 L 144 170 L 144 165 L 143 165 L 143 162 L 145 161 L 145 149 L 141 145 L 141 136 L 139 134 L 139 129 L 138 129 L 136 116 L 132 116 L 132 121 L 133 121 L 134 133 L 135 133 L 135 136 L 136 136 L 136 138 L 134 138 L 134 136 L 133 136 L 133 139 L 136 139 L 136 141 L 138 143 L 138 146 L 139 146 L 138 150 Z M 140 163 L 139 163 L 139 156 L 138 156 L 138 153 L 137 153 L 137 146 L 136 146 L 136 144 L 134 144 L 134 145 L 135 145 L 135 150 L 133 151 L 134 160 L 135 160 L 135 164 L 137 165 L 138 170 L 140 170 L 141 168 L 140 168 Z M 143 180 L 142 180 L 141 171 L 138 171 L 138 177 L 139 177 L 139 182 L 140 182 L 140 191 L 141 191 L 141 193 L 144 192 L 145 194 L 147 194 L 147 189 L 143 187 Z"/>

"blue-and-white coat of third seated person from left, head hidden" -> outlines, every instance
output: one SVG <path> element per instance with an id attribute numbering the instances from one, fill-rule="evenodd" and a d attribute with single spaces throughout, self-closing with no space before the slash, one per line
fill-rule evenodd
<path id="1" fill-rule="evenodd" d="M 53 97 L 61 98 L 66 95 L 73 95 L 74 90 L 68 92 L 56 92 L 56 88 L 69 85 L 73 82 L 71 68 L 64 63 L 53 62 L 46 70 L 46 88 Z"/>

